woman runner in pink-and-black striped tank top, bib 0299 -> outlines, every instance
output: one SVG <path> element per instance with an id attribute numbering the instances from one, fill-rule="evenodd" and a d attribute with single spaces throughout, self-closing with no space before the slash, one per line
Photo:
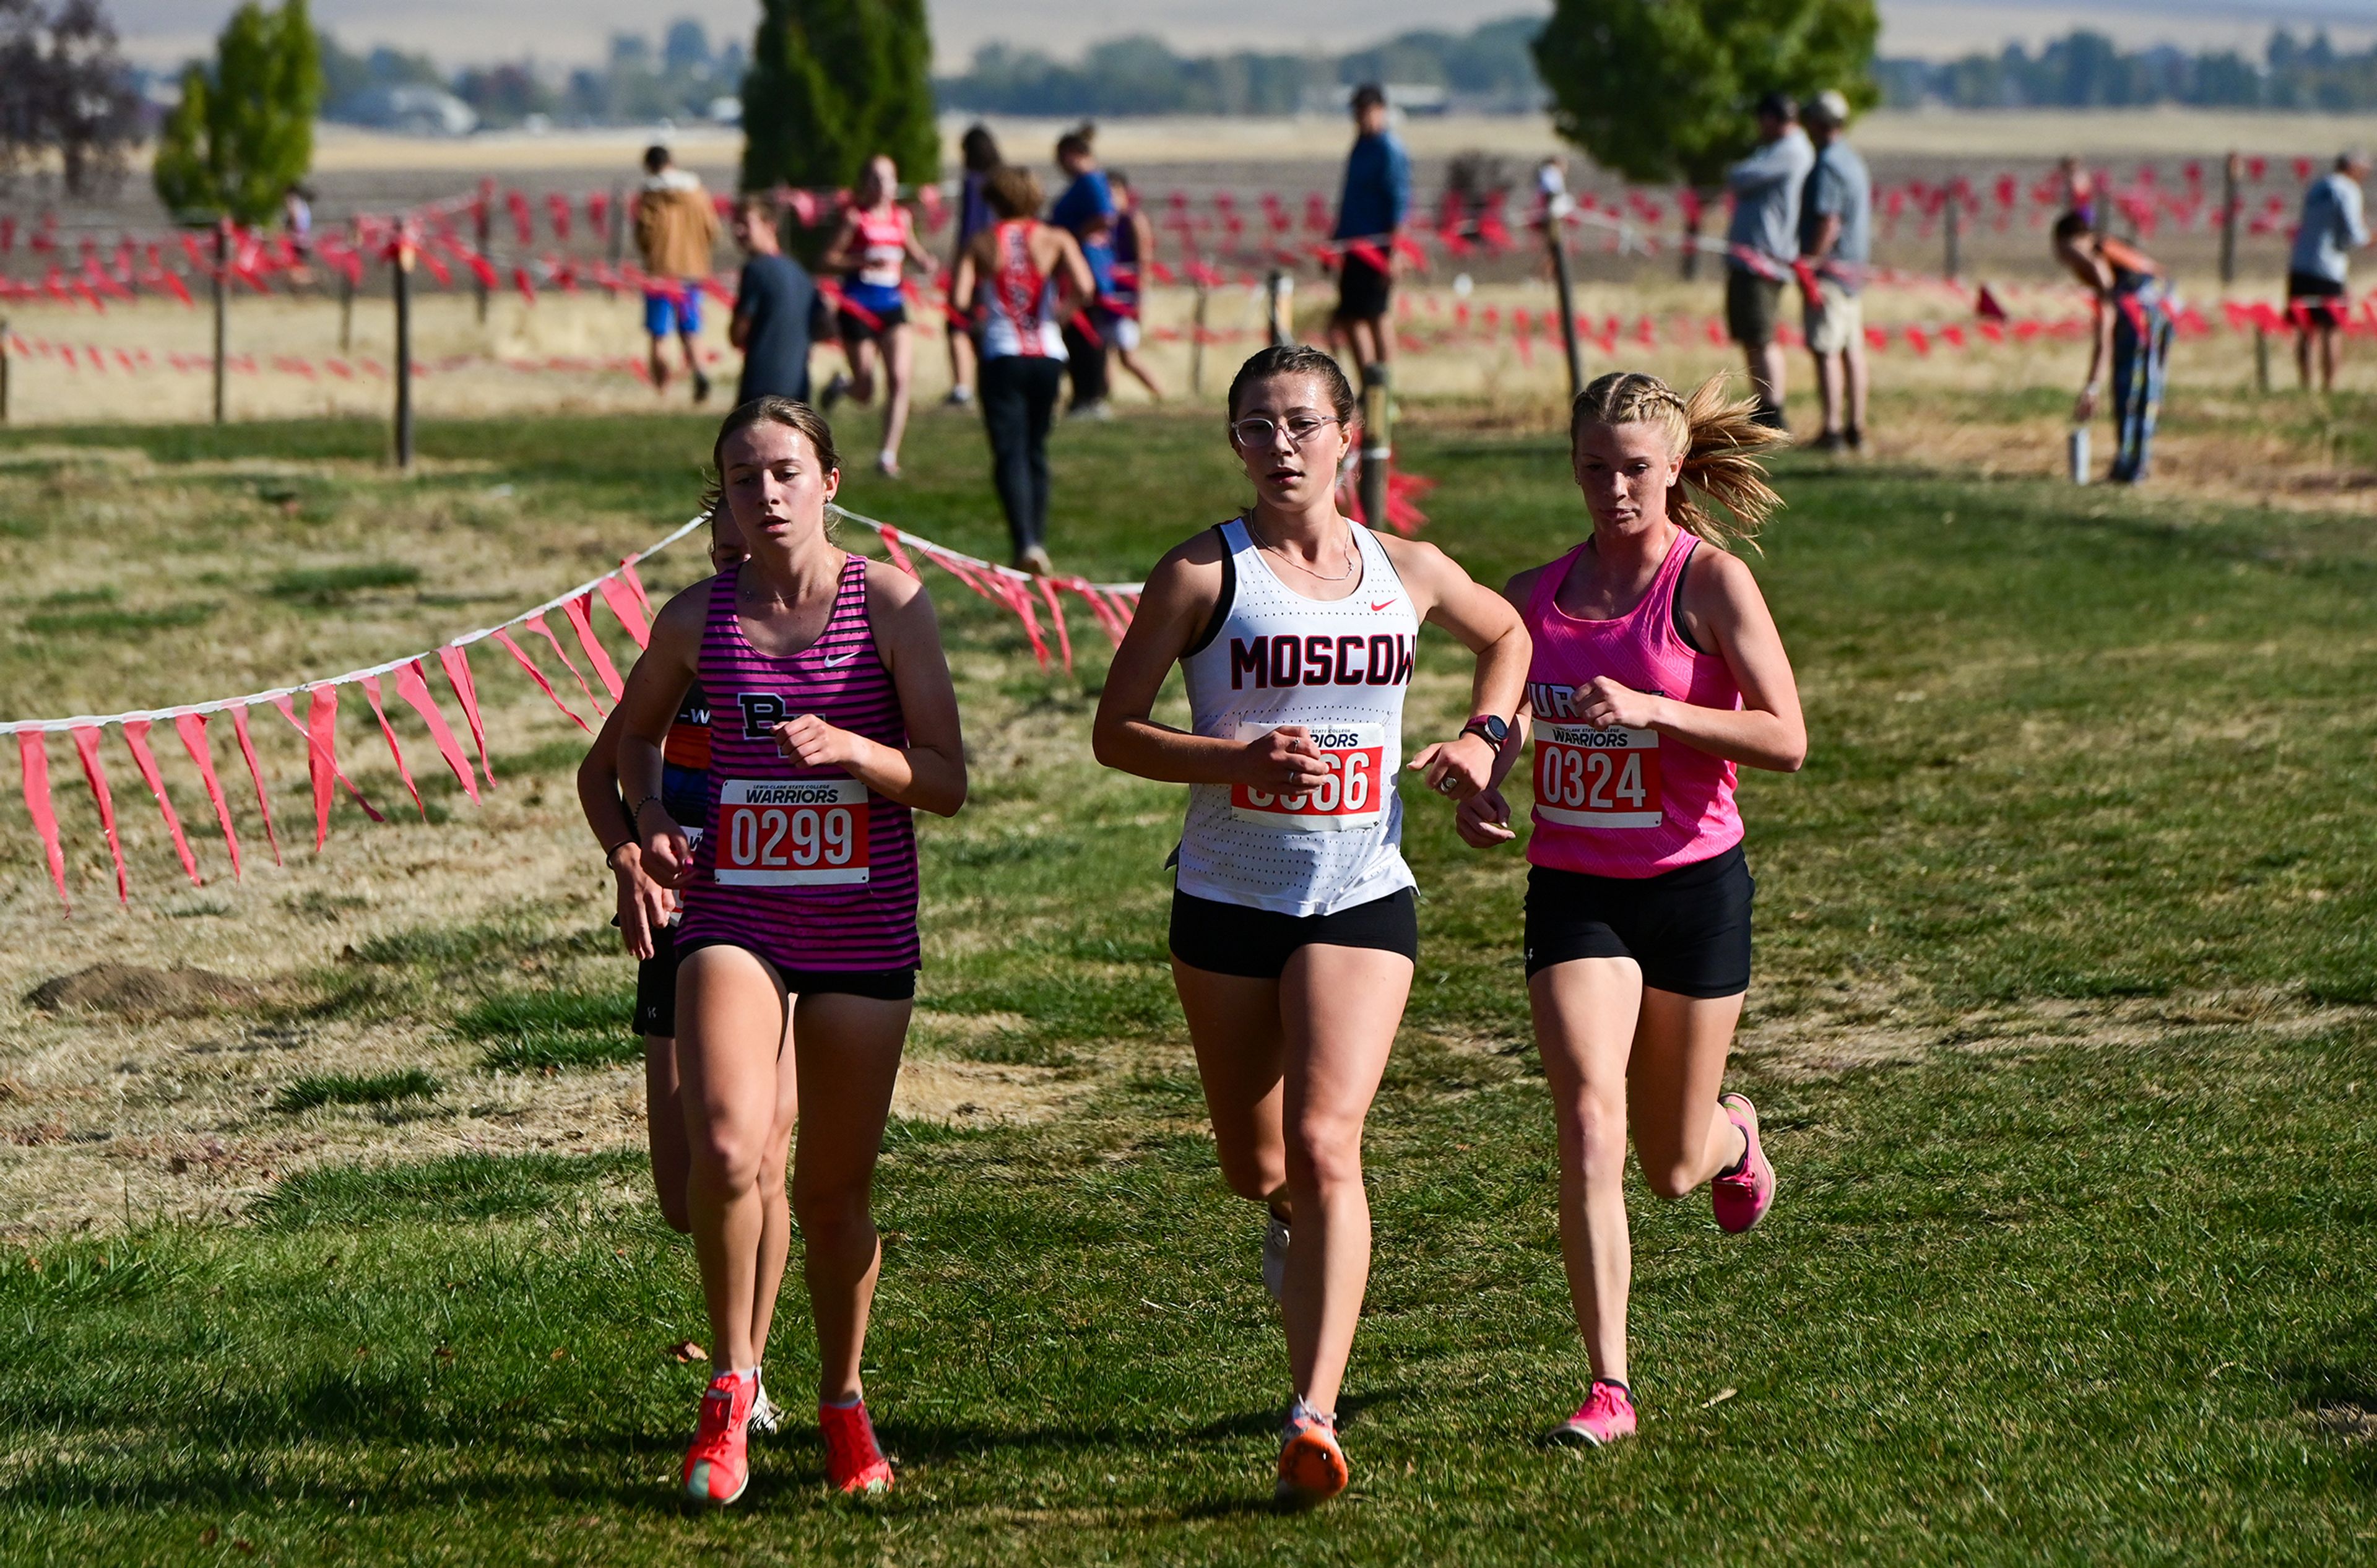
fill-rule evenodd
<path id="1" fill-rule="evenodd" d="M 858 1359 L 879 1262 L 868 1188 L 915 998 L 910 810 L 946 817 L 965 803 L 965 741 L 922 584 L 825 532 L 841 482 L 825 421 L 761 397 L 727 416 L 713 461 L 749 558 L 654 620 L 618 741 L 642 865 L 685 903 L 677 1071 L 715 1376 L 680 1485 L 694 1501 L 730 1504 L 749 1478 L 754 1316 L 775 1300 L 789 1247 L 765 1224 L 761 1183 L 782 1169 L 806 1098 L 792 1207 L 818 1323 L 827 1473 L 844 1492 L 879 1492 L 891 1466 Z M 711 701 L 711 784 L 689 853 L 661 801 L 661 744 L 696 677 Z"/>

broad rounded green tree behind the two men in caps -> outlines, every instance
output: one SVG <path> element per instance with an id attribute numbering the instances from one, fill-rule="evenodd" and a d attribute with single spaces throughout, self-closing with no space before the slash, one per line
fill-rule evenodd
<path id="1" fill-rule="evenodd" d="M 1761 93 L 1837 88 L 1871 107 L 1880 31 L 1873 0 L 1557 0 L 1536 69 L 1552 124 L 1593 162 L 1709 192 L 1757 143 Z M 1688 233 L 1697 216 L 1688 204 Z"/>

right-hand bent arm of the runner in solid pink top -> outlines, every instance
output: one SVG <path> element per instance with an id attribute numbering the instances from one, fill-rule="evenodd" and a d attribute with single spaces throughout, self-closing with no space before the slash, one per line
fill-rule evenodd
<path id="1" fill-rule="evenodd" d="M 1807 763 L 1807 720 L 1799 715 L 1799 682 L 1792 679 L 1783 634 L 1776 632 L 1759 580 L 1723 551 L 1695 554 L 1695 573 L 1683 584 L 1683 613 L 1692 637 L 1714 644 L 1742 689 L 1740 708 L 1695 708 L 1673 696 L 1633 691 L 1609 677 L 1583 694 L 1583 720 L 1595 729 L 1657 729 L 1709 755 L 1799 772 Z"/>

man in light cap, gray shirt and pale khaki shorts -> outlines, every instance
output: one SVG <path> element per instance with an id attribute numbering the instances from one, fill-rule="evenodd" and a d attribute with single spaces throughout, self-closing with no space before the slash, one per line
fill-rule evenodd
<path id="1" fill-rule="evenodd" d="M 1866 314 L 1859 292 L 1873 259 L 1873 181 L 1866 159 L 1840 140 L 1849 100 L 1818 93 L 1807 107 L 1816 166 L 1799 197 L 1799 292 L 1807 352 L 1823 394 L 1818 451 L 1856 451 L 1866 442 Z"/>

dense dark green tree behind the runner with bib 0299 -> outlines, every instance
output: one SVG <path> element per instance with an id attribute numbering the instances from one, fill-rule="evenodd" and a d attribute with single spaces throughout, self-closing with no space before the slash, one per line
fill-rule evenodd
<path id="1" fill-rule="evenodd" d="M 844 188 L 877 152 L 941 178 L 925 0 L 763 0 L 744 76 L 744 190 Z"/>

